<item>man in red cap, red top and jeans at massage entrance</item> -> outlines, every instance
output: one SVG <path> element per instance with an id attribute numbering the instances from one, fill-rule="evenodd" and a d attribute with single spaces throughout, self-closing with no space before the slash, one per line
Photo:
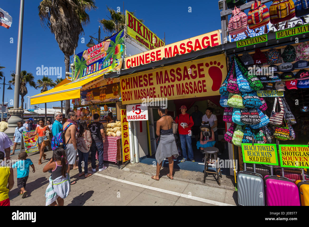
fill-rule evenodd
<path id="1" fill-rule="evenodd" d="M 181 143 L 181 149 L 182 149 L 182 155 L 183 155 L 183 159 L 181 160 L 181 162 L 185 162 L 188 159 L 188 155 L 189 155 L 189 159 L 192 162 L 195 162 L 194 158 L 193 158 L 193 149 L 192 149 L 192 141 L 191 141 L 191 127 L 194 125 L 192 116 L 190 116 L 188 113 L 186 113 L 187 111 L 187 107 L 182 105 L 180 107 L 181 110 L 181 114 L 179 116 L 176 117 L 175 122 L 178 123 L 178 131 L 179 131 L 179 137 L 180 137 L 180 143 Z M 183 126 L 181 126 L 181 123 L 184 123 Z M 188 146 L 188 155 L 187 155 L 187 150 L 186 150 L 186 143 Z"/>

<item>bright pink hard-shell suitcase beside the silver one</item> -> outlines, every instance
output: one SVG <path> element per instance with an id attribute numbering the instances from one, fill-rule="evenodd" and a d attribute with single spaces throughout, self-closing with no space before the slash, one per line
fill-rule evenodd
<path id="1" fill-rule="evenodd" d="M 267 206 L 300 206 L 297 185 L 280 176 L 265 176 L 265 196 Z"/>

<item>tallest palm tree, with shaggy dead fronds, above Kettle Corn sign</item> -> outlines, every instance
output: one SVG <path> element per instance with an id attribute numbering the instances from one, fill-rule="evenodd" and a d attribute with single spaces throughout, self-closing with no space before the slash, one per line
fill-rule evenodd
<path id="1" fill-rule="evenodd" d="M 64 53 L 66 72 L 70 72 L 70 56 L 78 45 L 83 26 L 90 22 L 86 10 L 96 9 L 94 0 L 43 0 L 38 7 L 41 24 L 49 27 Z M 48 9 L 48 10 L 47 10 Z M 65 103 L 66 116 L 70 100 Z"/>

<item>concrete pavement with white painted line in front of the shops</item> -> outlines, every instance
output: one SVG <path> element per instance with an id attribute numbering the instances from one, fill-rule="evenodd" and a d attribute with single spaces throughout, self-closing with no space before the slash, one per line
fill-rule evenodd
<path id="1" fill-rule="evenodd" d="M 52 152 L 46 153 L 49 159 Z M 12 159 L 17 155 L 11 156 Z M 43 173 L 43 167 L 48 159 L 42 160 L 38 165 L 39 154 L 29 154 L 36 172 L 30 168 L 26 186 L 28 196 L 21 198 L 17 192 L 17 173 L 14 170 L 15 185 L 9 192 L 12 206 L 45 205 L 45 190 L 48 186 L 50 174 Z M 91 170 L 90 165 L 88 170 Z M 98 170 L 98 168 L 97 168 Z M 128 170 L 128 169 L 127 169 Z M 150 175 L 134 171 L 119 170 L 108 167 L 106 170 L 96 172 L 85 178 L 78 177 L 78 170 L 70 171 L 71 181 L 77 183 L 71 186 L 69 196 L 64 200 L 64 205 L 236 205 L 237 192 L 224 188 L 209 187 L 176 179 L 171 180 L 166 176 L 159 181 L 150 178 Z"/>

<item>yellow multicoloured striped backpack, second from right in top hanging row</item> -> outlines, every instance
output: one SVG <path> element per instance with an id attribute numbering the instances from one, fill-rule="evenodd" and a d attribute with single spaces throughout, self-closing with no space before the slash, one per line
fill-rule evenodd
<path id="1" fill-rule="evenodd" d="M 279 29 L 280 22 L 286 21 L 285 28 L 288 26 L 288 20 L 295 16 L 295 7 L 292 0 L 274 0 L 269 6 L 270 23 Z"/>

